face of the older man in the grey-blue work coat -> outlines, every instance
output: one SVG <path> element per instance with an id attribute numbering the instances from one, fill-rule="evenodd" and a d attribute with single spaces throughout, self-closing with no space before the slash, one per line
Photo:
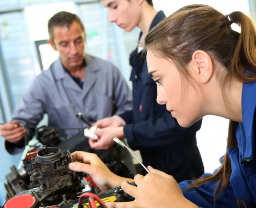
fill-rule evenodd
<path id="1" fill-rule="evenodd" d="M 74 71 L 84 64 L 85 32 L 78 22 L 67 27 L 53 28 L 53 42 L 49 40 L 52 48 L 59 51 L 63 66 L 68 71 Z"/>

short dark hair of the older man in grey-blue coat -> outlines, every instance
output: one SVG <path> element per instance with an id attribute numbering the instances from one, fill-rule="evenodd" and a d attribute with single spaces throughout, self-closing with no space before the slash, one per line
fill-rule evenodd
<path id="1" fill-rule="evenodd" d="M 69 26 L 72 24 L 73 21 L 78 22 L 81 28 L 83 29 L 83 31 L 85 31 L 83 22 L 80 20 L 80 18 L 76 14 L 73 14 L 68 11 L 60 11 L 60 12 L 57 12 L 55 15 L 53 15 L 48 21 L 48 33 L 49 33 L 50 40 L 53 42 L 52 31 L 54 27 L 60 26 L 60 27 L 69 28 Z"/>

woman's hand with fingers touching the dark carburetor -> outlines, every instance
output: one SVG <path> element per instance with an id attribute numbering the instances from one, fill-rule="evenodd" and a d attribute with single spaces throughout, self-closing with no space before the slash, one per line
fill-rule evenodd
<path id="1" fill-rule="evenodd" d="M 123 180 L 133 181 L 133 179 L 123 178 L 112 173 L 96 154 L 76 151 L 72 155 L 74 162 L 69 163 L 69 169 L 87 173 L 88 177 L 99 186 L 100 190 L 118 187 Z"/>

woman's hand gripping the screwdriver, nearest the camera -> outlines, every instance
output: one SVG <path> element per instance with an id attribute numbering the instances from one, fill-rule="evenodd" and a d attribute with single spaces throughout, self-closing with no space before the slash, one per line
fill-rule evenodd
<path id="1" fill-rule="evenodd" d="M 150 166 L 148 170 L 150 173 L 146 176 L 136 175 L 134 177 L 137 187 L 129 185 L 126 181 L 123 181 L 121 185 L 124 192 L 135 198 L 133 202 L 108 202 L 107 207 L 198 207 L 184 198 L 179 185 L 172 176 Z"/>

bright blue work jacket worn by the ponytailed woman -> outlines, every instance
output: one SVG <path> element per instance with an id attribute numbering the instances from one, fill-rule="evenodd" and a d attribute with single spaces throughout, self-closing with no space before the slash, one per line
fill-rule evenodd
<path id="1" fill-rule="evenodd" d="M 236 128 L 238 148 L 228 148 L 232 173 L 227 189 L 217 198 L 215 207 L 238 207 L 236 199 L 242 199 L 247 207 L 256 204 L 256 161 L 255 161 L 255 129 L 256 129 L 256 82 L 244 83 L 242 88 L 242 121 Z M 222 161 L 220 159 L 220 161 Z M 217 171 L 217 170 L 216 170 Z M 209 175 L 209 173 L 205 174 Z M 179 184 L 185 198 L 198 206 L 214 207 L 213 191 L 216 181 L 206 183 L 196 189 L 185 191 L 193 181 Z M 254 204 L 254 206 L 253 206 Z"/>

